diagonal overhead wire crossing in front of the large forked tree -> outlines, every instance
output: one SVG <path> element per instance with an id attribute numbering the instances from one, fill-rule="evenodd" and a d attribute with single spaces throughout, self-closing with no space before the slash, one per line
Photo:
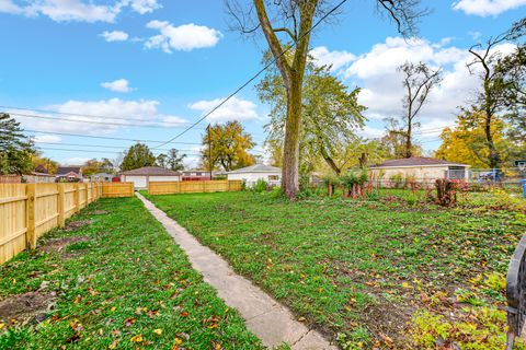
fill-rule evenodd
<path id="1" fill-rule="evenodd" d="M 282 58 L 286 52 L 288 52 L 293 47 L 295 47 L 297 45 L 297 43 L 301 42 L 302 39 L 305 39 L 305 37 L 310 34 L 310 32 L 312 32 L 312 30 L 315 30 L 321 22 L 323 22 L 328 16 L 330 16 L 333 12 L 335 12 L 338 9 L 340 9 L 347 0 L 342 0 L 340 1 L 339 4 L 336 4 L 332 10 L 330 10 L 329 12 L 327 12 L 323 16 L 321 16 L 304 35 L 301 35 L 297 42 L 293 42 L 293 43 L 289 43 L 288 47 L 283 50 L 283 52 L 281 55 L 278 55 L 277 57 L 273 58 L 267 65 L 265 65 L 262 69 L 260 69 L 260 71 L 258 71 L 254 75 L 252 75 L 252 78 L 250 78 L 249 80 L 247 80 L 243 84 L 241 84 L 238 89 L 236 89 L 230 95 L 228 95 L 225 100 L 222 100 L 219 104 L 217 104 L 214 108 L 211 108 L 209 112 L 207 112 L 203 117 L 201 117 L 196 122 L 194 122 L 193 125 L 191 125 L 188 128 L 186 128 L 185 130 L 183 130 L 182 132 L 178 133 L 176 136 L 174 136 L 173 138 L 171 138 L 170 140 L 165 141 L 165 143 L 161 143 L 157 147 L 155 147 L 153 149 L 156 148 L 160 148 L 160 147 L 163 147 L 164 144 L 169 143 L 169 142 L 172 142 L 174 140 L 176 140 L 178 138 L 180 138 L 181 136 L 183 136 L 184 133 L 186 133 L 187 131 L 190 131 L 191 129 L 193 129 L 195 126 L 197 126 L 197 124 L 199 124 L 201 121 L 205 120 L 209 115 L 211 115 L 214 112 L 216 112 L 217 109 L 219 109 L 222 105 L 225 105 L 230 98 L 232 98 L 233 96 L 236 96 L 241 90 L 243 90 L 244 88 L 247 88 L 247 85 L 249 85 L 251 82 L 253 82 L 258 77 L 261 75 L 261 73 L 263 73 L 264 71 L 266 71 L 271 66 L 273 66 L 279 58 Z"/>

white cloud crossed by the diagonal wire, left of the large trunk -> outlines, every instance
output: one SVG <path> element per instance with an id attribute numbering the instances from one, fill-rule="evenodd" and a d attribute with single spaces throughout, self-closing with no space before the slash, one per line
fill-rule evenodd
<path id="1" fill-rule="evenodd" d="M 225 98 L 216 98 L 211 101 L 198 101 L 191 104 L 188 107 L 194 110 L 201 110 L 203 114 L 208 113 L 216 107 Z M 256 105 L 248 100 L 232 97 L 226 102 L 221 107 L 210 114 L 206 120 L 208 122 L 221 122 L 227 120 L 252 120 L 258 119 L 259 115 Z"/>

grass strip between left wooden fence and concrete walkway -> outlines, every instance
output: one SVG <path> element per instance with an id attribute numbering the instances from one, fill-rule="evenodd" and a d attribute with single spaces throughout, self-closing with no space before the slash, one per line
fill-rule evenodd
<path id="1" fill-rule="evenodd" d="M 1 349 L 260 349 L 137 198 L 102 199 L 0 267 Z"/>

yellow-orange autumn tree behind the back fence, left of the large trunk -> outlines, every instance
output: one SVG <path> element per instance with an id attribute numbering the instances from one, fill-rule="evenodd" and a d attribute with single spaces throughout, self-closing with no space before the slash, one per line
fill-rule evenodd
<path id="1" fill-rule="evenodd" d="M 211 164 L 211 168 L 229 172 L 255 163 L 254 158 L 249 154 L 255 142 L 239 121 L 210 126 L 203 136 L 203 145 L 202 162 L 206 170 L 210 168 Z"/>

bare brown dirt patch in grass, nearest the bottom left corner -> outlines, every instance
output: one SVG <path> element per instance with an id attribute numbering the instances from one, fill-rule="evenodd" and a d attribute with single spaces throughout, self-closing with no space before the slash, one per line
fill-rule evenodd
<path id="1" fill-rule="evenodd" d="M 13 295 L 0 301 L 0 319 L 10 323 L 15 319 L 25 323 L 43 319 L 43 314 L 54 304 L 55 298 L 42 291 Z"/>

